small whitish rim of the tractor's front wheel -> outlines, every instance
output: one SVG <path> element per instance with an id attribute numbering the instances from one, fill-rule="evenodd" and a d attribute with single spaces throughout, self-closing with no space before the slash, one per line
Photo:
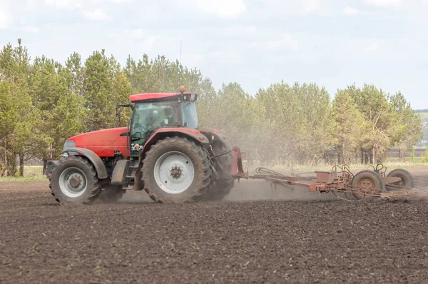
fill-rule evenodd
<path id="1" fill-rule="evenodd" d="M 70 198 L 81 196 L 86 191 L 87 185 L 85 173 L 80 168 L 66 168 L 59 176 L 59 188 Z"/>

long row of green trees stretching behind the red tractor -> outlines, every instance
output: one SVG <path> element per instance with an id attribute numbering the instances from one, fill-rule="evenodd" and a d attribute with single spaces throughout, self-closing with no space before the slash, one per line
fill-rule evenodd
<path id="1" fill-rule="evenodd" d="M 338 90 L 333 100 L 315 83 L 273 83 L 250 96 L 238 83 L 216 91 L 199 70 L 164 56 L 130 56 L 125 66 L 103 50 L 84 62 L 76 53 L 65 64 L 45 56 L 31 61 L 19 40 L 0 51 L 0 175 L 22 175 L 25 158 L 58 158 L 70 136 L 125 126 L 115 107 L 131 93 L 180 85 L 201 94 L 200 126 L 222 131 L 253 161 L 334 163 L 331 154 L 338 153 L 340 163 L 376 163 L 392 146 L 405 151 L 422 137 L 420 118 L 402 93 L 372 85 Z"/>

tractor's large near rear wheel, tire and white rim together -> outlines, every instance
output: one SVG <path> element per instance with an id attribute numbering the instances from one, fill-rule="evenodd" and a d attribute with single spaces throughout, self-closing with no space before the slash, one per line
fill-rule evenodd
<path id="1" fill-rule="evenodd" d="M 141 171 L 144 190 L 160 203 L 197 201 L 211 183 L 207 153 L 181 137 L 167 137 L 153 145 Z"/>

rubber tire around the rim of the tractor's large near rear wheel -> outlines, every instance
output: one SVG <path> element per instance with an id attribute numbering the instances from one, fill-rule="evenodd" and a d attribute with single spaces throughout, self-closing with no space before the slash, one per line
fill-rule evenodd
<path id="1" fill-rule="evenodd" d="M 183 153 L 193 163 L 195 171 L 193 181 L 182 193 L 167 193 L 156 183 L 154 175 L 156 161 L 164 153 L 170 151 Z M 195 142 L 177 136 L 167 137 L 151 146 L 151 149 L 146 153 L 141 171 L 143 173 L 144 190 L 153 201 L 159 203 L 191 203 L 198 201 L 200 196 L 203 196 L 208 191 L 208 186 L 211 183 L 211 168 L 207 153 Z"/>

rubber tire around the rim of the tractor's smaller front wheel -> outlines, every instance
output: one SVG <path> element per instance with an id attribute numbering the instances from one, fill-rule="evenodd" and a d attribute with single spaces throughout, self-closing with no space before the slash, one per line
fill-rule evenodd
<path id="1" fill-rule="evenodd" d="M 59 186 L 59 178 L 61 173 L 67 168 L 75 167 L 80 169 L 86 176 L 86 190 L 85 192 L 76 198 L 66 196 Z M 49 180 L 49 187 L 51 188 L 52 196 L 58 203 L 81 203 L 90 204 L 95 201 L 96 197 L 101 191 L 100 181 L 95 168 L 92 163 L 86 158 L 81 156 L 70 156 L 61 158 L 58 161 L 57 166 L 52 171 L 51 179 Z"/>

